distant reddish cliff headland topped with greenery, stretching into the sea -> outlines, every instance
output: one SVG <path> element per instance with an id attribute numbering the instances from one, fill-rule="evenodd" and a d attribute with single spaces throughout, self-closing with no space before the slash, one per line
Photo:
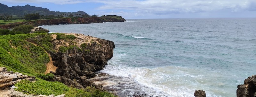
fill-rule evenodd
<path id="1" fill-rule="evenodd" d="M 10 23 L 0 25 L 2 29 L 11 29 L 17 25 L 29 24 L 33 26 L 42 25 L 57 25 L 57 24 L 89 24 L 89 23 L 104 23 L 104 22 L 124 22 L 126 21 L 121 16 L 102 16 L 102 17 L 70 17 L 70 18 L 58 18 L 58 19 L 45 19 L 45 20 L 34 20 L 18 23 Z"/>

